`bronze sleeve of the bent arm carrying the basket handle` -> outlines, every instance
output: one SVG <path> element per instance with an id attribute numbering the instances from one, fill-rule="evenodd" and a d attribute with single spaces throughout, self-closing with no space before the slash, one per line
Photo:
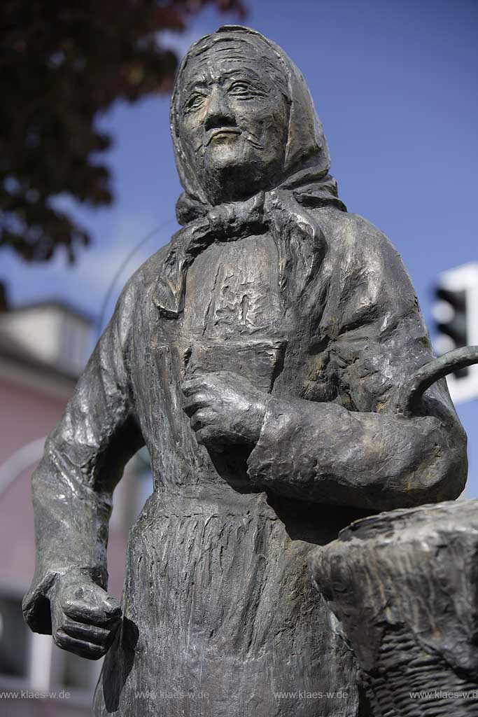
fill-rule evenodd
<path id="1" fill-rule="evenodd" d="M 457 498 L 467 439 L 444 379 L 413 417 L 395 409 L 399 387 L 433 359 L 411 281 L 376 227 L 345 221 L 351 226 L 311 342 L 321 347 L 315 391 L 309 385 L 303 394 L 314 399 L 269 400 L 249 478 L 302 500 L 373 510 Z"/>

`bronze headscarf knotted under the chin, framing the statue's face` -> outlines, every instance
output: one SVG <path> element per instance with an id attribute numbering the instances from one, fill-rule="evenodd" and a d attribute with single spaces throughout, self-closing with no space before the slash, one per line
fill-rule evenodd
<path id="1" fill-rule="evenodd" d="M 211 206 L 200 177 L 196 176 L 181 145 L 178 127 L 181 87 L 193 57 L 217 42 L 231 39 L 254 47 L 264 71 L 269 72 L 285 94 L 290 105 L 287 146 L 277 187 L 261 191 L 246 201 Z M 282 287 L 289 285 L 298 298 L 297 293 L 305 290 L 325 248 L 322 231 L 307 209 L 330 205 L 343 212 L 347 210 L 338 199 L 335 179 L 328 174 L 330 156 L 322 124 L 305 80 L 290 57 L 277 44 L 247 27 L 225 25 L 202 37 L 188 50 L 178 70 L 171 98 L 171 135 L 184 189 L 176 204 L 176 215 L 184 229 L 171 240 L 163 272 L 158 277 L 154 300 L 161 314 L 166 318 L 177 318 L 181 314 L 188 268 L 206 247 L 266 231 L 277 241 Z M 294 260 L 302 266 L 290 272 L 290 263 Z"/>

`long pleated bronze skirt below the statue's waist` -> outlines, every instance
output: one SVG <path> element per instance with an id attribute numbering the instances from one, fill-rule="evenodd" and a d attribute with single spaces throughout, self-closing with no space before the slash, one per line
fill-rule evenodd
<path id="1" fill-rule="evenodd" d="M 264 493 L 153 494 L 96 717 L 355 717 L 352 657 Z"/>

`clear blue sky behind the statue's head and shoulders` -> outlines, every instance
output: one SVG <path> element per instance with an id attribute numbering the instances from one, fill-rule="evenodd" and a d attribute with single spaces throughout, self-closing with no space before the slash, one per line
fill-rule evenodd
<path id="1" fill-rule="evenodd" d="M 330 146 L 332 171 L 350 212 L 380 227 L 398 248 L 432 329 L 439 272 L 478 260 L 478 2 L 476 0 L 246 0 L 246 24 L 282 45 L 310 85 Z M 186 34 L 168 34 L 180 54 L 226 22 L 206 11 Z M 100 118 L 115 136 L 107 162 L 116 202 L 75 207 L 94 244 L 75 267 L 63 256 L 29 266 L 2 252 L 0 277 L 13 303 L 61 298 L 94 315 L 125 260 L 105 315 L 128 276 L 176 227 L 180 186 L 168 98 L 115 105 Z M 67 198 L 64 204 L 69 205 Z M 478 406 L 459 407 L 469 434 L 468 495 L 478 496 Z"/>

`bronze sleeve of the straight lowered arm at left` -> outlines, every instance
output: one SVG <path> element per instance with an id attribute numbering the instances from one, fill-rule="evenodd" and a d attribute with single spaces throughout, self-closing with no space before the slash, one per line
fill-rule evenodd
<path id="1" fill-rule="evenodd" d="M 34 632 L 52 631 L 48 595 L 58 575 L 82 571 L 107 588 L 113 489 L 143 445 L 128 378 L 134 310 L 127 285 L 32 477 L 37 566 L 23 611 Z"/>

